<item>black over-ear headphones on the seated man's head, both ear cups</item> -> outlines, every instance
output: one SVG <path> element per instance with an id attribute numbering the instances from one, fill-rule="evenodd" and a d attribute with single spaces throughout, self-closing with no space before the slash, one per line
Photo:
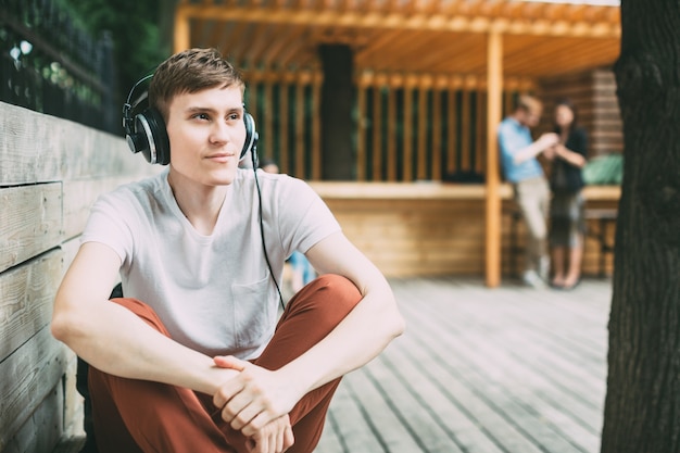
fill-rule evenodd
<path id="1" fill-rule="evenodd" d="M 136 98 L 135 91 L 142 83 L 153 77 L 153 74 L 139 79 L 127 95 L 127 100 L 123 104 L 123 128 L 125 129 L 125 140 L 130 151 L 141 152 L 151 164 L 169 164 L 169 139 L 165 122 L 161 112 L 149 105 L 149 90 L 144 89 Z M 138 113 L 139 112 L 139 113 Z M 257 168 L 257 131 L 255 130 L 255 119 L 250 113 L 243 111 L 243 123 L 245 125 L 245 141 L 239 160 L 243 159 L 248 151 L 251 151 L 253 167 Z"/>

